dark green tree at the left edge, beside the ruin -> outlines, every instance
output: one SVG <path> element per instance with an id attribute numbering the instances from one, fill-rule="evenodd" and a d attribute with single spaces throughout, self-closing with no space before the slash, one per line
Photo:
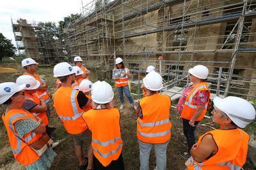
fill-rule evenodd
<path id="1" fill-rule="evenodd" d="M 12 44 L 12 40 L 8 40 L 0 33 L 0 61 L 4 57 L 12 57 L 15 54 L 16 48 Z"/>

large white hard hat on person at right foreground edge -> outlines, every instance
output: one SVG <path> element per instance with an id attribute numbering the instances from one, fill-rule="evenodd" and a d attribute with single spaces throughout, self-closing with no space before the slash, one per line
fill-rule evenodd
<path id="1" fill-rule="evenodd" d="M 244 128 L 255 119 L 255 109 L 250 102 L 239 97 L 214 97 L 214 106 L 227 114 L 237 127 Z"/>

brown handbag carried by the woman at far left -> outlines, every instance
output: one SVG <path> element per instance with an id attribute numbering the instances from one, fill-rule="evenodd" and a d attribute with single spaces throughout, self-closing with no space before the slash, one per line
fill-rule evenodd
<path id="1" fill-rule="evenodd" d="M 34 150 L 38 156 L 42 156 L 45 151 L 51 147 L 53 143 L 52 139 L 44 133 L 40 139 L 38 139 L 35 143 L 29 144 L 29 147 Z"/>

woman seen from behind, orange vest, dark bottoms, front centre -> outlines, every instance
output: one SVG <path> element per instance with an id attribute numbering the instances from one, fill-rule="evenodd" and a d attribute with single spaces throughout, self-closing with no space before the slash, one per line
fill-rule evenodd
<path id="1" fill-rule="evenodd" d="M 91 109 L 83 119 L 92 131 L 93 169 L 123 170 L 123 141 L 120 132 L 120 112 L 113 107 L 114 92 L 105 81 L 93 84 L 92 100 L 101 109 Z"/>

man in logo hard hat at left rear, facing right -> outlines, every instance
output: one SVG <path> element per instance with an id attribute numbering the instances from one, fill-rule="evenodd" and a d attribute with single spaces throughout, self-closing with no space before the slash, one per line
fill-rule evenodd
<path id="1" fill-rule="evenodd" d="M 23 59 L 22 62 L 22 67 L 25 69 L 25 72 L 23 75 L 31 75 L 35 77 L 37 81 L 40 82 L 40 87 L 37 89 L 36 94 L 45 100 L 47 104 L 47 117 L 48 120 L 50 120 L 50 108 L 49 108 L 49 100 L 50 100 L 50 95 L 47 92 L 47 82 L 44 81 L 39 75 L 36 74 L 36 71 L 38 70 L 38 63 L 32 58 L 26 58 Z"/>

